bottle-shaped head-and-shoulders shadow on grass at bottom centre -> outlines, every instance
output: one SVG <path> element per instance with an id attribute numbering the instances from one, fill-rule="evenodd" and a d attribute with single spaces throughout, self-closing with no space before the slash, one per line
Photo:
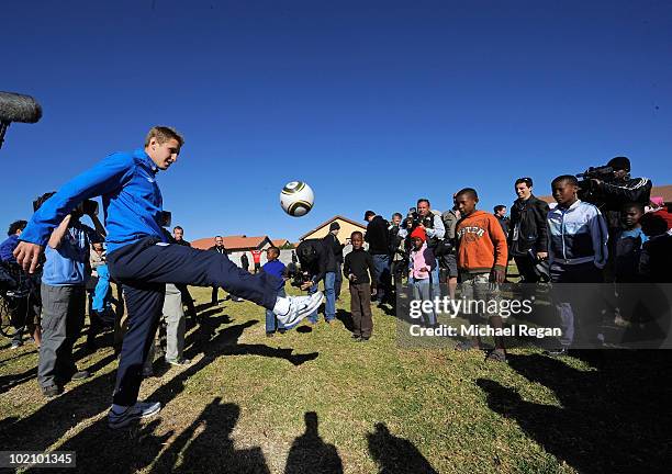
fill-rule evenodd
<path id="1" fill-rule="evenodd" d="M 292 443 L 284 474 L 343 474 L 343 462 L 334 444 L 320 437 L 317 414 L 304 415 L 305 432 Z"/>

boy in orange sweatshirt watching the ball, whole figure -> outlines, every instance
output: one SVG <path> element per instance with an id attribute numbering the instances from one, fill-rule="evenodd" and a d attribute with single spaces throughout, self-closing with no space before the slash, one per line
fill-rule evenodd
<path id="1" fill-rule="evenodd" d="M 507 248 L 506 236 L 497 218 L 484 211 L 475 208 L 479 195 L 472 188 L 460 190 L 456 204 L 462 218 L 456 227 L 457 264 L 462 282 L 462 295 L 469 300 L 491 301 L 499 296 L 499 284 L 506 276 Z M 488 303 L 485 303 L 488 306 Z M 479 324 L 482 315 L 470 314 L 470 323 Z M 502 328 L 502 316 L 491 315 L 490 327 Z M 495 348 L 486 360 L 506 362 L 504 338 L 496 336 Z M 459 343 L 457 350 L 480 349 L 481 338 Z"/>

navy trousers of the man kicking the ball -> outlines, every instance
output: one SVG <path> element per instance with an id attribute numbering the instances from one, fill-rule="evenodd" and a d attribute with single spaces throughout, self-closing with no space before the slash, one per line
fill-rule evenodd
<path id="1" fill-rule="evenodd" d="M 143 364 L 156 334 L 166 283 L 221 286 L 229 293 L 272 309 L 280 281 L 268 273 L 253 275 L 228 257 L 145 238 L 108 256 L 110 274 L 122 283 L 128 309 L 128 330 L 122 343 L 113 400 L 137 402 Z"/>

